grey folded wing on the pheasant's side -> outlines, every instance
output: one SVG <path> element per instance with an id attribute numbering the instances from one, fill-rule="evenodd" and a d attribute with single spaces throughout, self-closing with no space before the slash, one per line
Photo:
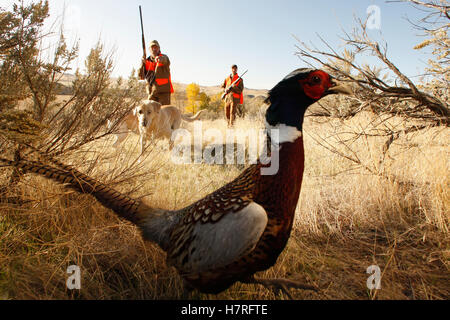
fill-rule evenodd
<path id="1" fill-rule="evenodd" d="M 235 199 L 225 211 L 197 213 L 180 224 L 172 233 L 175 244 L 168 261 L 180 273 L 200 273 L 223 268 L 251 252 L 267 226 L 264 208 L 247 199 Z M 206 210 L 213 210 L 208 207 Z M 219 210 L 213 210 L 219 211 Z M 213 217 L 220 216 L 220 219 Z"/>

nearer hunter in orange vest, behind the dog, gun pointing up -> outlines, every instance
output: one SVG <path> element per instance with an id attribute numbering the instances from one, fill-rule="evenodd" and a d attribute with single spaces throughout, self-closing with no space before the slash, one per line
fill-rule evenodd
<path id="1" fill-rule="evenodd" d="M 170 104 L 170 95 L 173 93 L 170 77 L 169 57 L 161 53 L 158 41 L 150 43 L 152 54 L 142 59 L 139 70 L 141 80 L 147 80 L 148 99 L 158 101 L 162 105 Z"/>

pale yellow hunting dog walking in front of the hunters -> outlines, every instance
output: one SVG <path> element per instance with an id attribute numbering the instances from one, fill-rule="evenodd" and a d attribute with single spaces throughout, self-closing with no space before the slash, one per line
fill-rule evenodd
<path id="1" fill-rule="evenodd" d="M 141 155 L 144 152 L 146 140 L 151 136 L 157 139 L 169 139 L 169 149 L 172 150 L 174 143 L 172 134 L 180 128 L 181 121 L 194 122 L 200 118 L 202 112 L 203 110 L 189 117 L 174 106 L 162 106 L 159 102 L 144 100 L 119 124 L 113 147 L 117 148 L 125 140 L 129 131 L 132 131 L 139 134 Z"/>

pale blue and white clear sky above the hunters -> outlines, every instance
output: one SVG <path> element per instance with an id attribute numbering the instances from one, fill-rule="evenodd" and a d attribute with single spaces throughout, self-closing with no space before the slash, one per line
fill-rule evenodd
<path id="1" fill-rule="evenodd" d="M 14 0 L 0 0 L 8 8 Z M 248 69 L 245 85 L 270 89 L 292 70 L 305 67 L 296 55 L 298 40 L 320 44 L 319 36 L 342 50 L 342 29 L 365 19 L 377 6 L 379 22 L 369 35 L 387 41 L 388 56 L 408 76 L 423 73 L 428 57 L 412 48 L 421 42 L 406 17 L 421 12 L 404 3 L 380 0 L 49 0 L 50 22 L 61 21 L 69 43 L 78 40 L 84 59 L 100 40 L 114 50 L 113 76 L 127 78 L 142 57 L 139 5 L 147 44 L 156 39 L 171 60 L 172 80 L 219 85 L 232 64 Z M 57 28 L 54 30 L 57 32 Z M 297 39 L 296 39 L 297 38 Z M 367 59 L 367 62 L 373 60 Z"/>

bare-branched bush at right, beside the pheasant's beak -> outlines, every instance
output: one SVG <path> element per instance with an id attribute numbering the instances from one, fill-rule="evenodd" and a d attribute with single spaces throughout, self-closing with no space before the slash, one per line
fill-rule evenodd
<path id="1" fill-rule="evenodd" d="M 415 5 L 426 7 L 432 10 L 430 14 L 437 16 L 434 25 L 440 30 L 440 37 L 445 38 L 445 45 L 448 46 L 448 6 L 438 5 L 435 2 L 422 3 L 420 1 L 409 1 Z M 422 20 L 422 23 L 425 23 Z M 421 85 L 416 84 L 390 60 L 388 56 L 387 43 L 380 44 L 372 40 L 367 32 L 367 22 L 356 19 L 357 27 L 351 32 L 344 31 L 342 40 L 344 41 L 344 50 L 337 52 L 324 39 L 321 42 L 327 50 L 320 50 L 317 47 L 308 46 L 301 43 L 298 46 L 298 56 L 306 63 L 317 66 L 329 71 L 335 77 L 342 81 L 349 82 L 354 89 L 353 97 L 338 97 L 331 102 L 331 107 L 326 107 L 324 103 L 312 110 L 310 116 L 337 117 L 340 119 L 351 118 L 363 111 L 369 111 L 376 115 L 373 121 L 361 127 L 360 130 L 351 132 L 345 131 L 345 127 L 336 129 L 333 137 L 323 137 L 314 135 L 314 139 L 323 147 L 339 154 L 343 158 L 353 162 L 369 172 L 388 176 L 385 171 L 384 162 L 388 151 L 394 141 L 401 136 L 424 130 L 429 127 L 444 126 L 450 124 L 450 109 L 448 96 L 436 94 L 429 90 L 430 83 L 440 83 L 448 90 L 447 56 L 442 56 L 441 60 L 434 60 L 432 67 L 434 71 L 430 72 L 427 80 Z M 428 30 L 428 29 L 427 29 Z M 428 43 L 428 42 L 427 42 Z M 432 44 L 440 46 L 440 42 Z M 431 43 L 428 43 L 431 45 Z M 425 45 L 419 46 L 421 48 Z M 370 55 L 376 57 L 379 66 L 370 66 L 359 63 L 360 56 Z M 448 50 L 446 51 L 448 55 Z M 399 117 L 402 122 L 390 122 L 390 119 Z M 382 146 L 382 156 L 378 160 L 365 162 L 361 159 L 359 152 L 354 149 L 357 141 L 365 144 L 364 140 L 372 138 L 385 138 Z M 370 153 L 370 150 L 366 150 Z"/>

